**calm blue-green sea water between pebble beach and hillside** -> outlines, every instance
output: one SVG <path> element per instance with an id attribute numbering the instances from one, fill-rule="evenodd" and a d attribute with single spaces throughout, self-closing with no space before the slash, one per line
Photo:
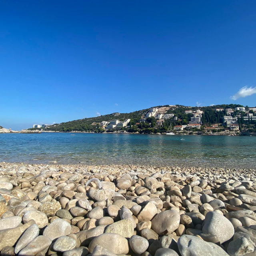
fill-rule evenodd
<path id="1" fill-rule="evenodd" d="M 0 134 L 2 161 L 256 168 L 256 137 Z"/>

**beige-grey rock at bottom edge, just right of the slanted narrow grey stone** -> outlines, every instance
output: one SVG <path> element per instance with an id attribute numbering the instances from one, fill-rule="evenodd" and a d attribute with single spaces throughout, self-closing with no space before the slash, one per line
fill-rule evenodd
<path id="1" fill-rule="evenodd" d="M 46 236 L 38 236 L 32 242 L 30 242 L 25 248 L 23 248 L 18 256 L 35 256 L 38 252 L 46 252 L 52 240 Z"/>

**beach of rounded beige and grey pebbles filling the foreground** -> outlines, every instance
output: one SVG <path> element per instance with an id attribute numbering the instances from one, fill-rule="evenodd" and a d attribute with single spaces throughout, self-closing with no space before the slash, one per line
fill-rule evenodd
<path id="1" fill-rule="evenodd" d="M 2 162 L 0 252 L 255 256 L 256 172 Z"/>

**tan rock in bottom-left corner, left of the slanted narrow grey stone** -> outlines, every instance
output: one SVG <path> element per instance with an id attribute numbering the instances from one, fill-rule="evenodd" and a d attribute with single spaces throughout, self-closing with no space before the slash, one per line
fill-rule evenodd
<path id="1" fill-rule="evenodd" d="M 0 231 L 0 250 L 5 246 L 13 247 L 16 244 L 22 233 L 32 224 L 35 224 L 34 220 L 30 220 L 24 225 L 17 228 L 8 228 Z"/>

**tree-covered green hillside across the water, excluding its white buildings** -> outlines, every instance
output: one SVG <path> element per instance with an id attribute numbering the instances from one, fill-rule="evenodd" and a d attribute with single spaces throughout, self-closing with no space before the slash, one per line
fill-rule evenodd
<path id="1" fill-rule="evenodd" d="M 45 131 L 56 131 L 56 132 L 113 132 L 116 130 L 127 130 L 128 132 L 140 132 L 140 133 L 159 133 L 165 132 L 172 122 L 172 127 L 174 126 L 181 126 L 181 125 L 188 125 L 192 116 L 197 110 L 200 110 L 203 114 L 201 116 L 200 122 L 201 127 L 200 131 L 207 130 L 207 127 L 212 126 L 212 124 L 218 124 L 218 128 L 216 130 L 221 131 L 226 128 L 226 124 L 223 123 L 223 117 L 226 115 L 226 109 L 234 110 L 236 107 L 243 107 L 242 105 L 238 104 L 221 104 L 221 105 L 214 105 L 214 106 L 202 106 L 202 107 L 191 107 L 191 106 L 182 106 L 182 105 L 164 105 L 164 106 L 155 106 L 152 107 L 156 109 L 153 116 L 149 118 L 145 117 L 146 113 L 150 110 L 150 108 L 146 108 L 143 110 L 138 110 L 130 113 L 112 113 L 102 116 L 96 116 L 91 118 L 84 118 L 79 120 L 73 120 L 69 122 L 63 122 L 60 124 L 54 124 L 52 126 L 48 126 L 47 128 L 42 128 Z M 248 106 L 245 107 L 248 112 Z M 222 109 L 221 111 L 217 111 L 216 109 Z M 251 110 L 252 111 L 252 110 Z M 232 117 L 234 118 L 240 111 L 233 111 Z M 256 113 L 252 112 L 254 116 Z M 172 114 L 172 117 L 164 118 L 164 122 L 161 124 L 157 121 L 157 114 Z M 245 115 L 245 112 L 242 112 L 241 115 Z M 175 118 L 174 118 L 175 117 Z M 141 122 L 140 119 L 144 118 Z M 161 117 L 160 117 L 161 118 Z M 100 125 L 102 121 L 110 122 L 111 120 L 120 120 L 124 121 L 125 119 L 130 119 L 128 124 L 128 128 L 124 129 L 108 129 L 105 130 L 104 127 Z M 158 117 L 159 119 L 159 117 Z M 248 122 L 246 129 L 255 130 L 254 122 Z M 240 124 L 240 130 L 242 130 L 243 118 L 238 118 L 238 124 Z M 190 129 L 185 129 L 192 131 L 199 130 L 197 128 L 190 127 Z M 36 128 L 31 128 L 29 130 L 35 130 Z M 213 129 L 213 128 L 212 128 Z M 243 129 L 244 130 L 244 129 Z M 212 130 L 213 131 L 213 130 Z M 208 132 L 209 129 L 208 129 Z"/>

